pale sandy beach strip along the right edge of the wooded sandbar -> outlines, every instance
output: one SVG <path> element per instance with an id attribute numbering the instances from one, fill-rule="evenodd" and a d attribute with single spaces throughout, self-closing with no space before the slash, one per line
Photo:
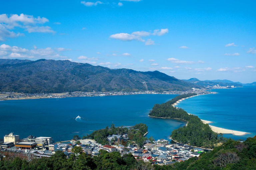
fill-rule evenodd
<path id="1" fill-rule="evenodd" d="M 199 94 L 199 95 L 204 95 L 204 94 Z M 195 96 L 199 96 L 199 95 L 195 95 Z M 195 96 L 191 96 L 191 97 L 195 97 Z M 183 98 L 183 99 L 180 99 L 178 100 L 176 103 L 172 104 L 173 107 L 176 107 L 181 101 L 185 100 L 185 99 L 188 99 L 188 98 L 191 98 L 191 97 L 187 97 L 187 98 Z M 177 107 L 176 107 L 177 108 Z M 192 115 L 190 113 L 188 113 L 189 115 Z M 213 123 L 211 121 L 206 121 L 206 120 L 202 120 L 201 121 L 204 123 L 204 124 L 210 124 L 210 123 Z M 233 135 L 237 135 L 237 136 L 241 136 L 241 135 L 245 135 L 245 134 L 250 134 L 248 132 L 244 132 L 244 131 L 238 131 L 238 130 L 230 130 L 230 129 L 225 129 L 225 128 L 219 128 L 219 127 L 216 127 L 216 126 L 212 126 L 212 125 L 209 125 L 210 128 L 212 129 L 212 131 L 216 132 L 216 133 L 222 133 L 222 134 L 233 134 Z"/>

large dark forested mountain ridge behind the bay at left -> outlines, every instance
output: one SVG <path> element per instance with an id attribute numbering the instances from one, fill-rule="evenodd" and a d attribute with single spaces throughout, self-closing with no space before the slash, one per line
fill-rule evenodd
<path id="1" fill-rule="evenodd" d="M 110 69 L 69 60 L 0 60 L 0 91 L 138 91 L 146 87 L 148 90 L 187 90 L 201 86 L 159 71 Z"/>

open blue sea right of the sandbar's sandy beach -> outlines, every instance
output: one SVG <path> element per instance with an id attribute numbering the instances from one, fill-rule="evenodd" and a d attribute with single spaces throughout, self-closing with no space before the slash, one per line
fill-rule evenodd
<path id="1" fill-rule="evenodd" d="M 256 135 L 256 86 L 212 90 L 218 94 L 199 95 L 177 105 L 210 125 L 249 132 L 243 136 L 225 134 L 225 137 L 245 139 Z"/>

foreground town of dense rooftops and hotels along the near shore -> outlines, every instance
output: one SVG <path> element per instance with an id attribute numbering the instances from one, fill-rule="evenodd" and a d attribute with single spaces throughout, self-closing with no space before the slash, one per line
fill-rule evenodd
<path id="1" fill-rule="evenodd" d="M 170 143 L 166 139 L 154 140 L 152 137 L 145 140 L 143 147 L 135 141 L 129 140 L 127 133 L 113 134 L 107 137 L 108 144 L 102 145 L 94 139 L 80 139 L 78 135 L 70 141 L 53 142 L 52 137 L 28 136 L 20 139 L 19 135 L 9 133 L 0 139 L 2 157 L 21 157 L 27 160 L 32 158 L 51 157 L 57 151 L 63 152 L 67 158 L 71 154 L 86 153 L 96 156 L 99 151 L 120 152 L 121 156 L 131 153 L 136 160 L 158 165 L 169 165 L 183 162 L 191 157 L 199 157 L 211 149 L 197 148 L 183 143 Z M 126 146 L 124 146 L 126 145 Z"/>

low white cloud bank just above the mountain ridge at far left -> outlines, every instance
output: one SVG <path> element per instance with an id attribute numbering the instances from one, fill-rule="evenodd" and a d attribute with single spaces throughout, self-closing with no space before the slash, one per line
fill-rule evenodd
<path id="1" fill-rule="evenodd" d="M 2 44 L 0 45 L 0 51 L 5 51 L 1 52 L 4 58 L 67 58 L 64 55 L 60 55 L 57 49 L 50 47 L 26 49 Z"/>

